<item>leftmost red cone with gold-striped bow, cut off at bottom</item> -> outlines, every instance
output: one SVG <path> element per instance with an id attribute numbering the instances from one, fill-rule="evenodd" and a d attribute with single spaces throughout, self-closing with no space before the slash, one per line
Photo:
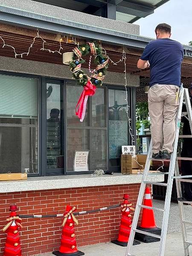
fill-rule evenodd
<path id="1" fill-rule="evenodd" d="M 7 233 L 5 250 L 3 256 L 21 256 L 19 229 L 22 228 L 21 218 L 16 216 L 16 204 L 10 205 L 10 216 L 6 219 L 7 224 L 3 232 Z"/>

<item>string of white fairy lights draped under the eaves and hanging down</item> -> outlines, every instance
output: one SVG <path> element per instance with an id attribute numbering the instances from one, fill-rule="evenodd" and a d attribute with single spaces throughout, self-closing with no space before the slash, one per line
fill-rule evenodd
<path id="1" fill-rule="evenodd" d="M 40 33 L 39 33 L 39 30 L 38 30 L 38 31 L 36 32 L 35 37 L 34 37 L 33 40 L 32 40 L 32 43 L 29 45 L 28 51 L 22 52 L 22 53 L 18 53 L 18 52 L 16 51 L 15 47 L 13 47 L 12 45 L 6 44 L 5 39 L 3 39 L 2 36 L 0 36 L 0 39 L 3 41 L 3 46 L 2 46 L 2 48 L 4 48 L 4 47 L 10 47 L 10 48 L 12 48 L 13 51 L 14 51 L 14 54 L 15 54 L 15 58 L 17 58 L 17 56 L 20 56 L 21 58 L 23 58 L 23 55 L 28 56 L 29 53 L 30 53 L 30 50 L 31 50 L 31 48 L 33 47 L 33 45 L 35 44 L 35 41 L 36 41 L 37 38 L 40 38 L 41 41 L 42 41 L 42 47 L 40 48 L 40 50 L 42 50 L 42 51 L 48 51 L 49 53 L 58 53 L 58 54 L 62 55 L 61 50 L 64 50 L 64 49 L 63 49 L 61 43 L 62 43 L 62 41 L 64 40 L 65 35 L 61 35 L 61 38 L 60 38 L 60 40 L 59 40 L 59 49 L 57 49 L 57 50 L 51 50 L 51 49 L 46 48 L 45 44 L 46 44 L 47 42 L 46 42 L 46 40 L 44 40 L 44 38 L 41 37 L 41 35 L 40 35 Z M 69 39 L 68 36 L 67 36 L 67 38 L 66 38 L 66 43 L 74 43 L 74 44 L 76 44 L 76 45 L 79 47 L 79 42 L 77 42 L 77 41 L 76 41 L 76 38 L 74 38 L 74 37 L 72 37 L 72 39 Z M 100 43 L 100 44 L 101 44 L 101 43 Z M 106 50 L 105 50 L 103 47 L 102 47 L 102 50 L 103 50 L 103 52 L 105 52 L 105 55 L 107 55 Z M 126 113 L 127 113 L 127 118 L 128 118 L 128 130 L 129 130 L 129 134 L 130 134 L 130 137 L 131 137 L 131 145 L 134 146 L 134 143 L 135 143 L 135 141 L 134 141 L 134 134 L 132 134 L 132 128 L 131 128 L 131 121 L 132 121 L 132 119 L 129 117 L 129 108 L 130 108 L 130 106 L 129 106 L 129 104 L 128 104 L 128 89 L 127 89 L 128 82 L 127 82 L 127 72 L 126 72 L 126 52 L 125 52 L 124 47 L 123 47 L 123 51 L 122 51 L 122 58 L 120 58 L 119 61 L 114 62 L 113 60 L 111 60 L 111 58 L 109 58 L 109 60 L 111 61 L 111 64 L 113 64 L 113 65 L 117 65 L 117 64 L 119 64 L 120 62 L 123 62 L 123 63 L 124 63 L 124 73 L 125 73 L 125 77 L 124 77 L 124 78 L 125 78 L 125 84 L 124 84 L 124 87 L 125 87 L 125 92 L 126 92 L 126 99 L 125 99 L 125 101 L 126 101 Z M 90 57 L 90 61 L 89 61 L 89 71 L 92 73 L 93 71 L 91 71 L 91 69 L 90 69 L 90 64 L 91 64 L 91 57 Z M 135 153 L 135 152 L 134 152 L 134 153 Z M 137 159 L 136 159 L 136 162 L 137 162 Z M 138 163 L 138 162 L 137 162 L 137 163 Z M 139 163 L 138 163 L 138 164 L 139 164 Z M 162 166 L 162 167 L 163 167 L 163 166 Z"/>

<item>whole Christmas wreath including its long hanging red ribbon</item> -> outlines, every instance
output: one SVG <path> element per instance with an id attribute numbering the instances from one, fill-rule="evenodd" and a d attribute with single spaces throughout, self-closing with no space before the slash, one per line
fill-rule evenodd
<path id="1" fill-rule="evenodd" d="M 89 72 L 92 74 L 91 76 L 88 76 L 81 70 L 81 65 L 85 62 L 82 57 L 89 53 L 91 53 L 89 61 Z M 97 66 L 91 71 L 90 64 L 92 56 L 95 58 Z M 95 94 L 96 86 L 102 85 L 108 68 L 108 61 L 108 55 L 103 54 L 102 47 L 95 42 L 83 44 L 73 49 L 73 60 L 70 61 L 70 69 L 73 77 L 79 80 L 79 83 L 84 87 L 79 102 L 76 105 L 76 116 L 79 117 L 80 122 L 83 122 L 85 116 L 88 97 Z"/>

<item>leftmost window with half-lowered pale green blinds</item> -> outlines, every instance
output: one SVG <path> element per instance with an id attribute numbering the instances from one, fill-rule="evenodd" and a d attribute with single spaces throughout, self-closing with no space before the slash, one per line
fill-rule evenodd
<path id="1" fill-rule="evenodd" d="M 0 173 L 38 173 L 38 79 L 0 75 Z"/>

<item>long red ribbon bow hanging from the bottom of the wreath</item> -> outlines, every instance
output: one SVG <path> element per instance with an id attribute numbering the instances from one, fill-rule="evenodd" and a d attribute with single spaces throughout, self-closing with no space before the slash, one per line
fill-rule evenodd
<path id="1" fill-rule="evenodd" d="M 90 81 L 88 81 L 87 84 L 84 86 L 84 90 L 81 93 L 79 101 L 76 105 L 76 116 L 80 118 L 80 122 L 83 122 L 84 120 L 88 97 L 93 96 L 95 94 L 95 91 L 96 91 L 96 86 L 93 85 Z"/>

